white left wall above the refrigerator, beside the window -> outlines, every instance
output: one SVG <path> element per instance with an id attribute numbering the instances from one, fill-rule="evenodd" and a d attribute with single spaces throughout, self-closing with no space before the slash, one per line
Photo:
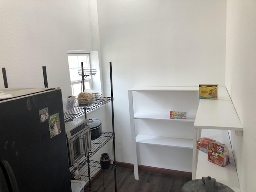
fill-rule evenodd
<path id="1" fill-rule="evenodd" d="M 48 86 L 72 95 L 67 50 L 100 51 L 97 4 L 94 0 L 0 0 L 0 67 L 9 88 Z M 4 82 L 0 78 L 0 87 Z"/>

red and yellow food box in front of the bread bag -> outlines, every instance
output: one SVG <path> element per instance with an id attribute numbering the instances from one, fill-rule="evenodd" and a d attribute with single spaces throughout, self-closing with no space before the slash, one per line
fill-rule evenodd
<path id="1" fill-rule="evenodd" d="M 208 161 L 219 166 L 228 165 L 228 148 L 218 142 L 208 143 Z"/>

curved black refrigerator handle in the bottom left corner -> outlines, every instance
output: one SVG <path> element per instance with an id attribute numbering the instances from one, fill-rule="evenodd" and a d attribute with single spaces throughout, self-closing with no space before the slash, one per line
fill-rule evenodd
<path id="1" fill-rule="evenodd" d="M 0 163 L 0 166 L 2 168 L 2 171 L 3 171 L 4 175 L 5 175 L 9 191 L 19 192 L 14 172 L 12 171 L 12 167 L 10 166 L 8 161 L 2 160 L 2 162 Z"/>

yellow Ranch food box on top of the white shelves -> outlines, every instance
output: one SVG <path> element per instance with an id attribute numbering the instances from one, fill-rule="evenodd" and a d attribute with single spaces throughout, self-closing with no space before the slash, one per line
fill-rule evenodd
<path id="1" fill-rule="evenodd" d="M 218 99 L 218 84 L 200 84 L 200 99 Z"/>

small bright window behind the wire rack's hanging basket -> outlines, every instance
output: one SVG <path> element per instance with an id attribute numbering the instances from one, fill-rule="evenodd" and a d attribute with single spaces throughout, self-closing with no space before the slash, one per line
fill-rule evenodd
<path id="1" fill-rule="evenodd" d="M 68 66 L 73 96 L 78 96 L 80 92 L 83 92 L 82 76 L 78 74 L 78 70 L 82 69 L 81 62 L 83 63 L 84 69 L 90 69 L 90 54 L 68 54 Z M 91 76 L 85 77 L 84 88 L 92 89 Z"/>

